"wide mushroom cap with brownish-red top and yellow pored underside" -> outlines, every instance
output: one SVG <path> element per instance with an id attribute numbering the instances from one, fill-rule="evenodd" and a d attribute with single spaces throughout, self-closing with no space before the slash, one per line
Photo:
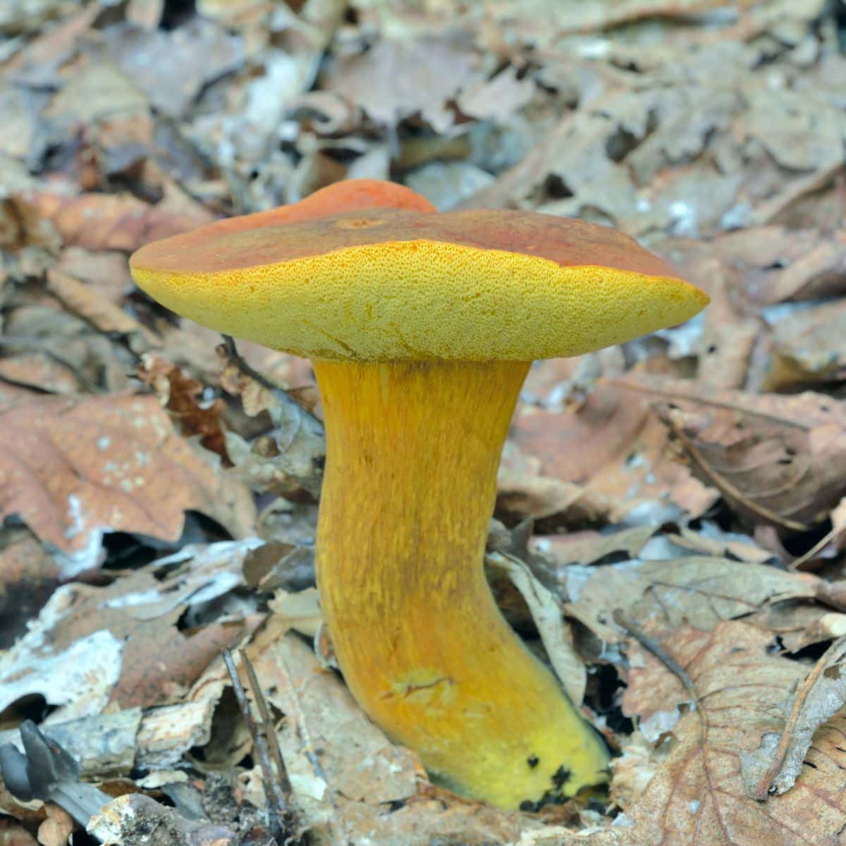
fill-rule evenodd
<path id="1" fill-rule="evenodd" d="M 580 220 L 395 207 L 268 219 L 147 244 L 135 282 L 203 326 L 327 360 L 578 355 L 708 303 L 633 239 Z"/>

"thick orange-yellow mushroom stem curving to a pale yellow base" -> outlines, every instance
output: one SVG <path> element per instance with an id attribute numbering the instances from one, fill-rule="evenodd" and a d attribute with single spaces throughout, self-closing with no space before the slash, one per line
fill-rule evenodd
<path id="1" fill-rule="evenodd" d="M 355 698 L 460 793 L 517 808 L 604 781 L 602 741 L 508 627 L 483 570 L 529 363 L 314 364 L 327 432 L 317 574 Z"/>

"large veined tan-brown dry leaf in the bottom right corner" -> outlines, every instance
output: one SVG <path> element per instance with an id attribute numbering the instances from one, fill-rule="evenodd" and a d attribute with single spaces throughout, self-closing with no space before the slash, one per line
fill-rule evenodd
<path id="1" fill-rule="evenodd" d="M 722 623 L 711 632 L 679 629 L 657 642 L 689 675 L 700 710 L 688 711 L 672 728 L 673 751 L 626 809 L 633 825 L 621 843 L 836 846 L 846 825 L 846 754 L 839 748 L 846 717 L 834 717 L 816 733 L 794 788 L 766 805 L 746 796 L 741 774 L 740 755 L 777 728 L 774 711 L 804 668 L 772 655 L 770 636 L 741 623 Z M 689 701 L 656 656 L 636 645 L 630 655 L 627 713 L 666 711 Z M 598 838 L 600 843 L 606 841 Z"/>

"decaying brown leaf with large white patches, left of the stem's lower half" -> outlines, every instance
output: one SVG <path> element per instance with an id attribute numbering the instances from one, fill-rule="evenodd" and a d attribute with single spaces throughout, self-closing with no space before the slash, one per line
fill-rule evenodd
<path id="1" fill-rule="evenodd" d="M 103 711 L 178 702 L 223 646 L 238 642 L 260 621 L 233 615 L 180 631 L 186 609 L 202 607 L 243 584 L 244 554 L 257 539 L 183 551 L 158 563 L 159 578 L 141 570 L 113 585 L 65 585 L 30 630 L 0 654 L 0 711 L 35 694 L 58 706 L 59 722 Z M 214 701 L 196 700 L 208 712 Z M 167 725 L 173 715 L 159 711 Z M 204 730 L 207 729 L 207 725 Z M 173 744 L 164 744 L 173 757 Z"/>

